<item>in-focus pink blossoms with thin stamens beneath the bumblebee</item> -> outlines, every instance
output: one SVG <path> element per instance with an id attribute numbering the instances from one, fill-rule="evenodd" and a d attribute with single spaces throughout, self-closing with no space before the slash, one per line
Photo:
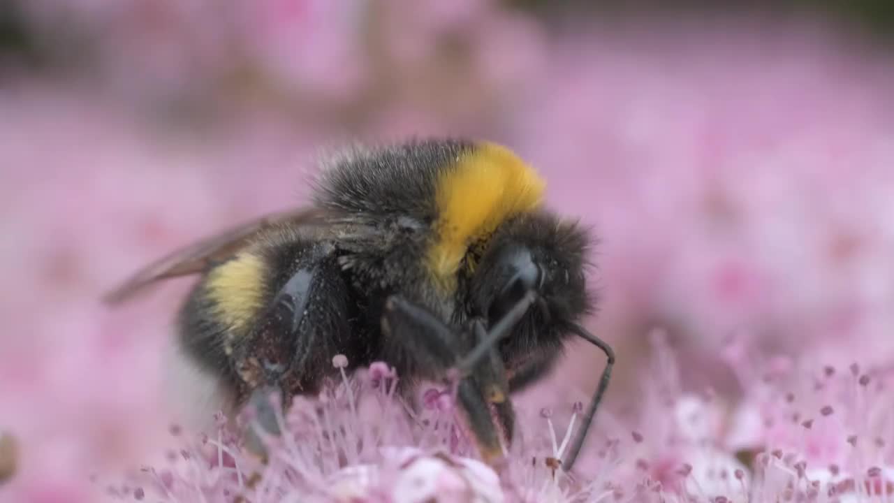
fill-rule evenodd
<path id="1" fill-rule="evenodd" d="M 250 410 L 240 416 L 239 431 L 253 429 L 264 440 L 266 462 L 220 414 L 215 433 L 188 440 L 172 426 L 179 443 L 163 462 L 144 465 L 126 482 L 97 484 L 111 500 L 211 502 L 844 502 L 894 495 L 894 405 L 884 399 L 890 371 L 861 371 L 856 362 L 841 372 L 748 362 L 766 371 L 762 384 L 731 404 L 675 387 L 679 362 L 665 335 L 654 332 L 652 343 L 643 406 L 627 420 L 600 413 L 589 455 L 572 473 L 556 461 L 579 405 L 564 432 L 549 409 L 526 417 L 502 465 L 491 467 L 474 459 L 448 389 L 427 388 L 413 408 L 394 394 L 400 376 L 387 365 L 349 377 L 346 359 L 336 356 L 342 381 L 277 414 L 282 436 L 268 435 Z"/>

